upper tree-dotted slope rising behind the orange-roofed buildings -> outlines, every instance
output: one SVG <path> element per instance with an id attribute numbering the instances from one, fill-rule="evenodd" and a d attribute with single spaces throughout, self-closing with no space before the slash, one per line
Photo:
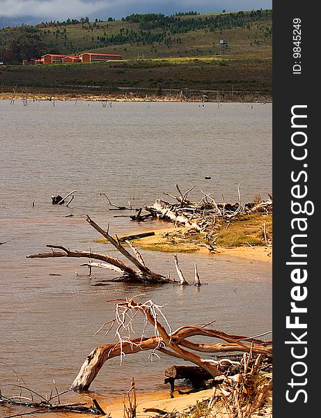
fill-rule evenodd
<path id="1" fill-rule="evenodd" d="M 212 56 L 219 40 L 233 55 L 271 54 L 272 11 L 216 15 L 131 15 L 123 20 L 89 22 L 88 18 L 47 22 L 0 30 L 1 61 L 21 63 L 45 53 L 95 51 L 122 54 L 125 59 L 168 56 Z"/>

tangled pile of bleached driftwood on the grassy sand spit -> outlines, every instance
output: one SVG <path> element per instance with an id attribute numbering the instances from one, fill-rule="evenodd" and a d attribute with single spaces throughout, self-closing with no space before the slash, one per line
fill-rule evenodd
<path id="1" fill-rule="evenodd" d="M 214 199 L 213 193 L 205 193 L 201 190 L 203 195 L 200 200 L 193 201 L 189 199 L 188 195 L 196 186 L 191 187 L 187 192 L 182 193 L 179 185 L 175 185 L 178 190 L 178 196 L 164 192 L 164 195 L 170 196 L 175 200 L 175 203 L 165 201 L 164 199 L 157 199 L 152 206 L 143 206 L 141 208 L 132 208 L 132 204 L 128 202 L 128 206 L 117 206 L 111 203 L 106 194 L 110 210 L 133 210 L 137 213 L 135 215 L 115 215 L 115 217 L 130 217 L 133 221 L 141 222 L 147 218 L 163 219 L 165 221 L 173 222 L 175 226 L 184 226 L 183 233 L 169 233 L 173 236 L 173 240 L 178 238 L 184 242 L 187 235 L 197 235 L 203 233 L 203 240 L 196 239 L 196 245 L 207 247 L 209 251 L 215 251 L 215 245 L 218 238 L 219 228 L 222 224 L 228 228 L 231 222 L 246 219 L 248 215 L 253 213 L 262 213 L 264 215 L 272 215 L 273 202 L 272 196 L 269 194 L 268 199 L 263 201 L 260 195 L 256 195 L 253 202 L 242 204 L 240 187 L 237 187 L 238 201 L 236 203 L 226 203 L 224 195 L 222 194 L 221 202 Z M 265 245 L 271 245 L 272 239 L 267 237 L 267 221 L 265 220 L 263 226 Z M 137 238 L 142 238 L 137 236 Z M 189 242 L 191 236 L 187 239 Z"/>

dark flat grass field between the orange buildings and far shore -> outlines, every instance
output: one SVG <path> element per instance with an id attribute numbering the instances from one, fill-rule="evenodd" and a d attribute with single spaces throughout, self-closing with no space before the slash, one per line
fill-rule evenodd
<path id="1" fill-rule="evenodd" d="M 267 91 L 271 60 L 128 60 L 118 63 L 10 65 L 0 68 L 3 91 L 46 88 L 59 91 L 113 91 L 128 88 L 194 88 L 199 90 Z"/>

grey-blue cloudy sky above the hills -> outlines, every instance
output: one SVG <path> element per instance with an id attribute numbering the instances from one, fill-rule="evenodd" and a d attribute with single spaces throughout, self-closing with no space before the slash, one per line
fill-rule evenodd
<path id="1" fill-rule="evenodd" d="M 115 17 L 131 13 L 196 10 L 200 13 L 272 8 L 272 0 L 0 0 L 0 16 L 32 16 L 46 20 L 68 17 Z"/>

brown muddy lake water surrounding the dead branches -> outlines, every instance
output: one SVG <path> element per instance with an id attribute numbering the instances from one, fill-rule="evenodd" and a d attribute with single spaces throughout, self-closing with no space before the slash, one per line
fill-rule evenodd
<path id="1" fill-rule="evenodd" d="M 113 273 L 95 270 L 90 278 L 75 258 L 26 258 L 45 251 L 46 244 L 118 256 L 109 245 L 94 242 L 100 237 L 86 223 L 87 213 L 102 226 L 110 222 L 111 233 L 119 235 L 164 228 L 162 222 L 136 224 L 114 217 L 125 213 L 109 210 L 100 193 L 139 208 L 164 198 L 164 191 L 175 194 L 175 183 L 184 190 L 196 185 L 194 199 L 203 189 L 214 192 L 217 201 L 222 193 L 226 201 L 237 201 L 240 184 L 242 202 L 257 193 L 265 199 L 272 192 L 271 104 L 113 102 L 104 108 L 100 102 L 58 101 L 24 107 L 22 101 L 0 100 L 0 118 L 0 242 L 14 238 L 0 246 L 3 394 L 19 392 L 5 386 L 17 382 L 12 369 L 42 395 L 50 393 L 52 380 L 60 391 L 68 389 L 88 353 L 114 341 L 113 334 L 93 336 L 113 317 L 113 304 L 107 302 L 112 298 L 144 293 L 139 300 L 166 305 L 173 329 L 210 320 L 231 333 L 271 329 L 270 263 L 179 254 L 187 277 L 198 264 L 206 284 L 197 289 L 106 284 L 102 281 Z M 65 196 L 73 189 L 70 208 L 52 205 L 52 194 Z M 173 254 L 142 254 L 152 270 L 175 276 Z M 113 400 L 128 389 L 131 376 L 141 393 L 167 390 L 162 373 L 174 363 L 180 364 L 163 355 L 150 362 L 148 353 L 127 355 L 123 366 L 111 359 L 93 382 L 91 396 Z M 87 400 L 65 395 L 66 401 L 79 399 Z M 1 407 L 0 417 L 14 412 Z"/>

